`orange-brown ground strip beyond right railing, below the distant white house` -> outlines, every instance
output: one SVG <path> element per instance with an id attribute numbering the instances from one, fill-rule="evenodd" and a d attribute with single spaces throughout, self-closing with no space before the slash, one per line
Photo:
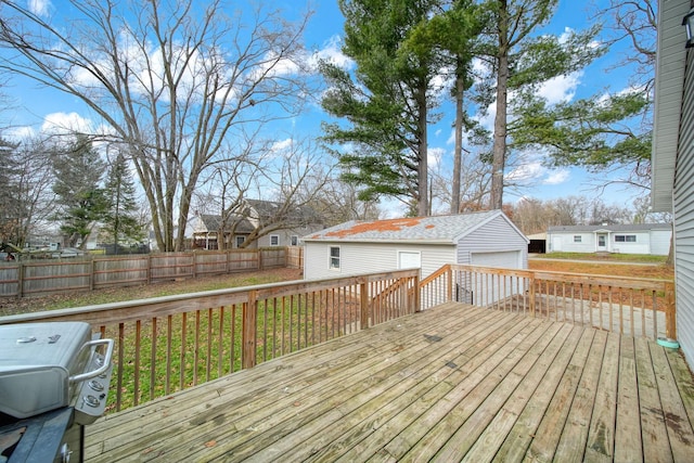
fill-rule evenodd
<path id="1" fill-rule="evenodd" d="M 674 269 L 665 265 L 644 263 L 602 263 L 576 260 L 529 259 L 530 270 L 549 270 L 555 272 L 589 273 L 612 276 L 634 276 L 658 280 L 673 280 Z"/>

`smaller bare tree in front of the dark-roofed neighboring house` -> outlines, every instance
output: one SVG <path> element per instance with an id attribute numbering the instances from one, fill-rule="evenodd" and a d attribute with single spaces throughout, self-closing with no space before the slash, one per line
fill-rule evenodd
<path id="1" fill-rule="evenodd" d="M 249 139 L 243 151 L 217 163 L 206 192 L 196 196 L 196 209 L 216 216 L 219 248 L 231 247 L 226 239 L 237 231 L 245 237 L 241 247 L 247 247 L 278 230 L 300 234 L 322 223 L 320 210 L 312 206 L 332 178 L 332 166 L 321 164 L 321 157 L 308 140 Z"/>

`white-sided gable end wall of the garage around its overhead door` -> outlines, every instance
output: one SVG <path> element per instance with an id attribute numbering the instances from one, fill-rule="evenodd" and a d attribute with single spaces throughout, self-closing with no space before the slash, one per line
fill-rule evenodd
<path id="1" fill-rule="evenodd" d="M 493 237 L 493 239 L 490 239 Z M 472 253 L 520 253 L 520 268 L 528 268 L 528 242 L 502 217 L 496 217 L 484 227 L 467 234 L 458 243 L 457 263 L 472 263 Z"/>

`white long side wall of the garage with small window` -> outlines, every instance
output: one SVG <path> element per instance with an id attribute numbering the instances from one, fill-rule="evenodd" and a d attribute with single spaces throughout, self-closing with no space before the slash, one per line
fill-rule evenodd
<path id="1" fill-rule="evenodd" d="M 340 269 L 329 269 L 330 246 L 339 246 Z M 399 252 L 419 252 L 422 255 L 421 278 L 426 278 L 446 263 L 453 263 L 455 248 L 452 244 L 399 244 L 399 243 L 350 243 L 307 242 L 305 248 L 304 278 L 332 278 L 391 271 L 398 269 Z"/>

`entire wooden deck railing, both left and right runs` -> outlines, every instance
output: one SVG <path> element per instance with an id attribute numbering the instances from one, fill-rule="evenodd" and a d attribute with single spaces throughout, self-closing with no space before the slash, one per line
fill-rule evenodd
<path id="1" fill-rule="evenodd" d="M 446 301 L 634 336 L 676 338 L 671 281 L 448 265 L 295 281 L 0 318 L 86 321 L 116 340 L 110 410 Z"/>

